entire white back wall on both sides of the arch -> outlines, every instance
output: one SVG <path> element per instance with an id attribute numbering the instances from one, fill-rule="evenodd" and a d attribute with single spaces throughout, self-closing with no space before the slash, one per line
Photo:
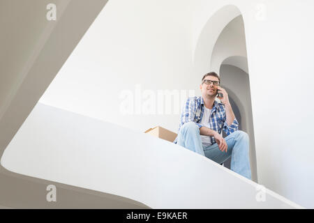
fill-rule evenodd
<path id="1" fill-rule="evenodd" d="M 198 94 L 220 31 L 242 13 L 259 183 L 313 208 L 314 3 L 260 3 L 109 1 L 40 102 L 141 131 L 154 125 L 176 131 L 179 115 L 119 115 L 119 93 L 139 83 L 153 92 Z M 228 4 L 237 7 L 211 20 Z"/>

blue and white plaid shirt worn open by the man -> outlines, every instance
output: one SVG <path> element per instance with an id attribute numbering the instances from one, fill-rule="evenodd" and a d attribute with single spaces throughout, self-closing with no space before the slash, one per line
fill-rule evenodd
<path id="1" fill-rule="evenodd" d="M 202 121 L 203 114 L 204 114 L 204 100 L 202 96 L 188 98 L 186 100 L 186 105 L 184 106 L 184 109 L 182 109 L 181 112 L 178 132 L 180 131 L 182 125 L 189 121 L 195 122 L 198 128 L 203 127 L 204 125 L 200 123 Z M 234 131 L 237 131 L 239 126 L 237 118 L 234 118 L 234 121 L 230 126 L 227 125 L 225 105 L 217 102 L 216 100 L 214 101 L 214 107 L 211 110 L 211 115 L 208 123 L 209 128 L 211 130 L 214 130 L 219 134 L 221 133 L 221 130 L 223 130 L 227 135 Z M 173 141 L 175 144 L 177 144 L 177 138 L 178 137 L 176 137 L 176 139 L 174 139 Z M 211 137 L 211 144 L 216 144 L 214 137 Z"/>

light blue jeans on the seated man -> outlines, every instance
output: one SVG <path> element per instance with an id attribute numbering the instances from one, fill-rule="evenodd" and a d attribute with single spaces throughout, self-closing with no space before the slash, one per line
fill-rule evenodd
<path id="1" fill-rule="evenodd" d="M 228 146 L 227 153 L 220 151 L 218 144 L 203 148 L 200 138 L 200 128 L 194 122 L 190 121 L 182 125 L 178 133 L 177 144 L 188 148 L 190 151 L 204 155 L 219 164 L 225 162 L 231 155 L 230 169 L 251 180 L 250 159 L 248 157 L 248 134 L 238 130 L 225 137 L 225 141 Z"/>

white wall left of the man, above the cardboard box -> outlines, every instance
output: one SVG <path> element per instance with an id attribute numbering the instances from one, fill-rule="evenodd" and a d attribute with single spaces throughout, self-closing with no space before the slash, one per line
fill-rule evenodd
<path id="1" fill-rule="evenodd" d="M 40 102 L 143 132 L 156 125 L 177 132 L 179 110 L 145 115 L 135 109 L 158 91 L 184 90 L 187 96 L 198 88 L 200 77 L 191 70 L 189 13 L 187 1 L 109 1 Z M 135 89 L 142 92 L 140 106 Z M 120 111 L 125 91 L 135 97 L 134 114 Z"/>

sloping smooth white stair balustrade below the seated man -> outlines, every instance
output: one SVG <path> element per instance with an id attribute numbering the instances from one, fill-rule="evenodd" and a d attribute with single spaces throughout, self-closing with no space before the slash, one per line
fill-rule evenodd
<path id="1" fill-rule="evenodd" d="M 300 208 L 269 190 L 256 201 L 256 183 L 177 144 L 47 105 L 36 105 L 1 164 L 151 208 Z"/>

